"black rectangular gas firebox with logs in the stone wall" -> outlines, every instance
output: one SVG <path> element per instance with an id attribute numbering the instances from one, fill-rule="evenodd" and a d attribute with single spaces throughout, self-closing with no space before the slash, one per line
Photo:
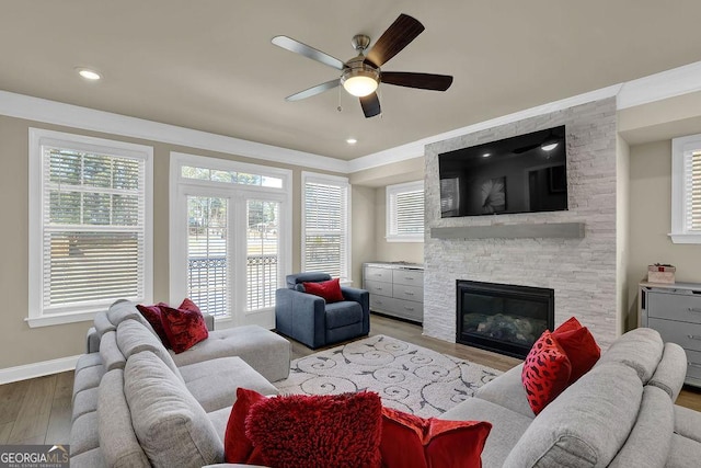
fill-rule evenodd
<path id="1" fill-rule="evenodd" d="M 456 342 L 524 358 L 554 326 L 553 289 L 457 282 Z"/>

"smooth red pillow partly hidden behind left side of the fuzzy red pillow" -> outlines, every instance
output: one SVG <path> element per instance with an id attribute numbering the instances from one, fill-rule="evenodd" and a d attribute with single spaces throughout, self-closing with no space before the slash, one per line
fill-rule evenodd
<path id="1" fill-rule="evenodd" d="M 245 435 L 245 419 L 251 407 L 266 397 L 248 388 L 237 388 L 237 401 L 231 408 L 223 436 L 223 459 L 228 464 L 263 464 L 261 450 Z"/>

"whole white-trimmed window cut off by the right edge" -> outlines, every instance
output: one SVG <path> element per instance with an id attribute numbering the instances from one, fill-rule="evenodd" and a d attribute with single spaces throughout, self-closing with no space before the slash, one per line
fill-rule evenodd
<path id="1" fill-rule="evenodd" d="M 671 140 L 671 232 L 675 243 L 701 243 L 701 135 Z"/>

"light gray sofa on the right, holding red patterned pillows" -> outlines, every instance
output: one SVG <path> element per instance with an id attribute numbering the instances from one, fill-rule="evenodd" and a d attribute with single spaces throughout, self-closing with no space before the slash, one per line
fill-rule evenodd
<path id="1" fill-rule="evenodd" d="M 701 413 L 674 404 L 687 358 L 655 330 L 620 336 L 537 416 L 519 365 L 441 414 L 493 424 L 482 453 L 496 467 L 698 467 Z"/>

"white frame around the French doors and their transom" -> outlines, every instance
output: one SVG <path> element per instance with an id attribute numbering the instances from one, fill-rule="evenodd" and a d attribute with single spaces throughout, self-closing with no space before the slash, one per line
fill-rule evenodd
<path id="1" fill-rule="evenodd" d="M 206 167 L 221 171 L 238 171 L 252 174 L 278 178 L 283 180 L 283 189 L 263 187 L 257 185 L 234 184 L 229 182 L 206 181 L 199 179 L 188 179 L 182 176 L 181 168 L 183 165 Z M 221 196 L 229 196 L 232 201 L 235 198 L 251 198 L 255 194 L 264 194 L 269 199 L 280 203 L 280 231 L 287 235 L 280 239 L 280 269 L 278 284 L 285 284 L 285 276 L 292 273 L 292 217 L 291 217 L 291 199 L 292 199 L 292 171 L 288 169 L 274 168 L 269 165 L 251 164 L 246 162 L 232 161 L 228 159 L 209 158 L 205 156 L 188 155 L 184 152 L 171 151 L 170 158 L 170 184 L 169 184 L 169 278 L 170 289 L 169 299 L 173 304 L 180 304 L 187 292 L 187 239 L 182 232 L 187 228 L 187 215 L 177 216 L 177 210 L 182 209 L 183 195 L 189 194 L 189 191 L 204 190 L 206 193 L 218 193 Z M 186 210 L 185 210 L 186 212 Z M 239 239 L 232 246 L 232 255 L 241 258 L 245 253 L 245 239 Z M 237 270 L 237 276 L 245 275 L 245 266 Z M 233 284 L 234 303 L 231 304 L 232 315 L 228 317 L 217 317 L 217 323 L 221 323 L 225 328 L 229 326 L 243 324 L 242 317 L 256 316 L 264 310 L 246 310 L 245 308 L 245 285 L 235 282 Z"/>

